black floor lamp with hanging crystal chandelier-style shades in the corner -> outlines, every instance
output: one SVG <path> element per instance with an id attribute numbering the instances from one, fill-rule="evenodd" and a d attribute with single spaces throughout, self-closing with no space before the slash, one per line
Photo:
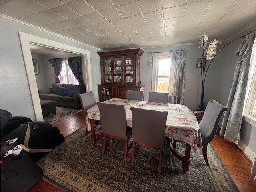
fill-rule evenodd
<path id="1" fill-rule="evenodd" d="M 216 54 L 217 44 L 220 43 L 220 41 L 214 39 L 210 41 L 208 44 L 207 40 L 208 40 L 208 34 L 204 33 L 200 38 L 200 45 L 199 45 L 199 48 L 200 47 L 203 48 L 203 54 L 201 57 L 201 63 L 203 65 L 206 65 L 206 63 L 204 63 L 205 58 L 206 60 L 211 60 L 214 58 L 214 55 Z M 206 73 L 208 71 L 210 64 L 211 62 L 208 64 L 207 68 L 206 66 L 201 67 L 202 90 L 201 90 L 201 102 L 199 106 L 201 111 L 204 111 L 204 82 L 205 82 Z"/>

